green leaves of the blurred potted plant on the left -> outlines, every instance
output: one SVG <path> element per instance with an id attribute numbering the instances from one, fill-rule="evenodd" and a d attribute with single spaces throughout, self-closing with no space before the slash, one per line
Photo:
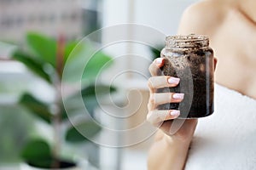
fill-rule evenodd
<path id="1" fill-rule="evenodd" d="M 56 82 L 61 82 L 62 73 L 57 71 L 57 69 L 59 69 L 57 68 L 57 65 L 63 66 L 67 62 L 71 65 L 71 68 L 69 68 L 70 75 L 67 76 L 67 82 L 70 83 L 75 81 L 73 77 L 75 77 L 81 68 L 84 68 L 84 63 L 81 61 L 84 60 L 84 57 L 88 57 L 88 63 L 86 63 L 87 65 L 85 66 L 83 70 L 84 73 L 82 75 L 83 81 L 86 82 L 85 85 L 83 85 L 81 92 L 77 92 L 77 94 L 73 94 L 67 98 L 70 98 L 70 101 L 72 101 L 72 99 L 76 99 L 77 95 L 82 94 L 83 98 L 86 97 L 84 105 L 88 108 L 90 114 L 93 114 L 92 111 L 94 111 L 94 108 L 97 106 L 95 89 L 97 89 L 97 94 L 100 95 L 115 91 L 115 88 L 113 87 L 95 83 L 95 78 L 100 71 L 102 71 L 103 66 L 106 64 L 110 65 L 112 61 L 110 56 L 102 52 L 97 52 L 93 56 L 90 56 L 89 54 L 92 47 L 89 44 L 87 45 L 84 43 L 79 46 L 77 46 L 77 44 L 78 42 L 65 42 L 62 49 L 59 48 L 60 42 L 55 40 L 55 38 L 46 37 L 36 32 L 29 32 L 26 35 L 26 50 L 18 48 L 13 54 L 13 59 L 16 59 L 26 65 L 26 67 L 32 71 L 35 76 L 49 82 L 49 85 L 56 90 L 56 93 L 60 93 L 57 90 L 59 84 L 56 84 Z M 62 42 L 61 45 L 63 45 Z M 61 49 L 63 51 L 58 51 Z M 58 63 L 59 60 L 57 58 L 60 57 L 58 54 L 63 54 L 63 56 L 61 56 L 61 61 L 63 61 L 63 63 Z M 45 69 L 46 67 L 51 67 L 51 69 Z M 44 120 L 44 122 L 48 122 L 49 125 L 52 125 L 53 127 L 56 126 L 53 124 L 53 122 L 55 122 L 53 119 L 55 117 L 58 117 L 58 119 L 61 118 L 61 120 L 58 121 L 58 126 L 61 126 L 61 123 L 67 119 L 67 113 L 63 107 L 60 95 L 61 94 L 59 94 L 59 99 L 56 98 L 55 101 L 57 112 L 52 112 L 52 110 L 50 110 L 53 105 L 52 103 L 42 102 L 32 94 L 28 93 L 23 94 L 20 97 L 20 105 L 26 108 L 26 110 L 34 116 Z M 74 108 L 73 112 L 78 112 L 79 109 L 80 108 Z M 56 116 L 56 114 L 58 115 Z M 73 114 L 71 113 L 69 115 Z M 86 131 L 85 134 L 86 136 L 89 135 L 89 137 L 96 135 L 96 133 L 101 130 L 101 127 L 99 127 L 96 122 L 90 120 L 79 122 L 75 127 L 82 131 L 84 130 L 84 132 Z M 79 133 L 75 127 L 67 128 L 67 131 L 61 133 L 63 133 L 67 141 L 71 143 L 87 141 L 87 139 L 84 138 L 84 136 Z M 62 134 L 60 136 L 62 136 Z M 43 159 L 44 156 L 52 154 L 53 152 L 51 150 L 53 148 L 54 146 L 49 147 L 48 143 L 44 140 L 34 141 L 31 139 L 31 141 L 27 142 L 21 156 L 23 156 L 23 159 L 26 161 L 37 161 L 38 159 Z M 51 155 L 50 157 L 53 158 L 54 156 Z M 55 157 L 55 159 L 58 158 Z"/>

